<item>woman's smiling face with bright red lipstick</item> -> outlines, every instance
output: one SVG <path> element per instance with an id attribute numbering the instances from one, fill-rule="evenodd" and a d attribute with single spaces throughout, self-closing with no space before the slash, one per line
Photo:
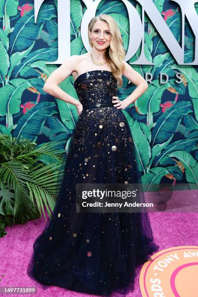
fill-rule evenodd
<path id="1" fill-rule="evenodd" d="M 89 31 L 89 36 L 92 39 L 93 47 L 98 50 L 108 48 L 112 38 L 109 25 L 101 20 L 95 22 L 92 31 Z"/>

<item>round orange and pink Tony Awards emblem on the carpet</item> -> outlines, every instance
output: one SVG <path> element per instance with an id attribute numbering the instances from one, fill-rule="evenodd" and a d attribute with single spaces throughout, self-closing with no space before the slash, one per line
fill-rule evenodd
<path id="1" fill-rule="evenodd" d="M 141 269 L 142 297 L 198 296 L 198 247 L 170 247 L 151 256 Z"/>

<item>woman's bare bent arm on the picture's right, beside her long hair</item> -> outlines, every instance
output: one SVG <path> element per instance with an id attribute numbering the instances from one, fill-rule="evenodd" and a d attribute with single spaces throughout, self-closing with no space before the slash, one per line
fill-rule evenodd
<path id="1" fill-rule="evenodd" d="M 123 72 L 123 75 L 137 86 L 132 94 L 122 101 L 127 107 L 129 104 L 133 103 L 136 99 L 138 99 L 140 96 L 142 96 L 142 94 L 146 92 L 146 90 L 148 89 L 148 83 L 137 71 L 132 69 L 132 67 L 128 63 L 124 61 L 124 64 L 125 70 Z"/>

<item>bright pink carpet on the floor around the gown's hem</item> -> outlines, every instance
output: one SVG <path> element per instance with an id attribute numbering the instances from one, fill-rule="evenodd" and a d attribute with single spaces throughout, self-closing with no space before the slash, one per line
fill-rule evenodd
<path id="1" fill-rule="evenodd" d="M 160 249 L 176 246 L 198 245 L 198 214 L 197 213 L 149 213 L 155 242 Z M 26 275 L 26 268 L 32 254 L 33 242 L 41 233 L 45 219 L 29 221 L 24 225 L 7 227 L 7 235 L 0 239 L 0 287 L 36 287 L 36 282 Z M 139 272 L 137 267 L 135 290 L 128 296 L 141 297 L 139 290 Z M 2 295 L 5 296 L 5 295 Z M 9 296 L 93 296 L 68 291 L 51 286 L 47 290 L 37 288 L 37 294 L 9 294 Z"/>

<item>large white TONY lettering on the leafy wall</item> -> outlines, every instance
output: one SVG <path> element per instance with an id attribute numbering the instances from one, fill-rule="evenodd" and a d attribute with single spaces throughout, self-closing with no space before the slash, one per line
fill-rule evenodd
<path id="1" fill-rule="evenodd" d="M 91 49 L 88 42 L 87 28 L 89 21 L 92 17 L 96 15 L 96 10 L 101 2 L 101 0 L 82 0 L 86 5 L 86 11 L 82 17 L 81 23 L 81 36 L 82 42 L 87 51 Z M 122 1 L 129 15 L 129 47 L 126 53 L 125 61 L 131 59 L 139 48 L 142 41 L 142 50 L 140 57 L 137 61 L 133 62 L 134 65 L 154 65 L 149 62 L 144 54 L 144 15 L 145 12 L 148 18 L 152 21 L 156 30 L 160 34 L 165 45 L 172 53 L 173 57 L 177 61 L 178 65 L 198 65 L 198 15 L 195 10 L 195 3 L 198 0 L 171 0 L 180 6 L 181 9 L 181 40 L 182 46 L 179 45 L 177 39 L 174 37 L 173 33 L 167 26 L 163 16 L 160 14 L 158 9 L 152 0 L 137 0 L 137 2 L 142 6 L 142 20 L 139 16 L 137 10 L 129 2 L 129 0 L 118 0 Z M 39 13 L 39 9 L 44 0 L 34 0 L 34 22 Z M 184 21 L 187 18 L 190 27 L 195 35 L 195 60 L 191 63 L 184 63 Z M 67 29 L 68 30 L 67 30 Z M 66 58 L 70 57 L 70 1 L 58 0 L 58 59 L 54 62 L 47 64 L 62 64 Z"/>

